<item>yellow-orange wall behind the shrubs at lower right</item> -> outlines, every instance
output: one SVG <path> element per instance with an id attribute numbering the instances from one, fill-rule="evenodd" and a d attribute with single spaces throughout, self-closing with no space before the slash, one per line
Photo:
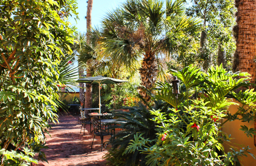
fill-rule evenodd
<path id="1" fill-rule="evenodd" d="M 234 100 L 234 102 L 239 103 L 237 101 Z M 239 103 L 240 106 L 242 106 L 241 103 Z M 238 105 L 232 105 L 230 106 L 230 108 L 228 109 L 228 111 L 231 113 L 231 115 L 233 115 L 234 113 L 236 113 L 236 111 L 238 110 L 239 106 Z M 224 121 L 225 119 L 223 119 Z M 222 131 L 226 132 L 228 135 L 231 134 L 231 138 L 234 138 L 233 140 L 231 140 L 231 144 L 228 143 L 224 143 L 224 148 L 225 148 L 225 152 L 230 151 L 229 149 L 229 145 L 240 148 L 239 145 L 244 145 L 244 146 L 249 146 L 250 148 L 252 148 L 251 150 L 249 150 L 252 154 L 256 155 L 256 147 L 254 146 L 254 142 L 253 142 L 253 138 L 252 137 L 247 137 L 246 134 L 244 134 L 243 131 L 239 130 L 241 127 L 240 125 L 246 125 L 248 128 L 253 128 L 254 127 L 254 122 L 251 121 L 250 123 L 248 122 L 241 122 L 240 120 L 235 120 L 232 122 L 227 122 L 223 125 Z M 255 166 L 256 165 L 256 160 L 254 160 L 254 158 L 249 155 L 246 154 L 248 157 L 243 157 L 241 158 L 239 161 L 241 164 L 243 164 L 244 166 Z"/>

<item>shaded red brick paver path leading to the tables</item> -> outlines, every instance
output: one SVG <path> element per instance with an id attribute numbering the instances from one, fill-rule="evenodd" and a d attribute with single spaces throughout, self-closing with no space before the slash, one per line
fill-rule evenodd
<path id="1" fill-rule="evenodd" d="M 93 147 L 93 133 L 90 133 L 90 125 L 85 127 L 85 135 L 80 134 L 81 123 L 77 124 L 78 116 L 60 116 L 59 124 L 52 124 L 50 135 L 46 135 L 46 146 L 43 149 L 47 162 L 40 161 L 39 166 L 104 166 L 102 158 L 107 153 L 100 150 L 100 137 L 95 136 Z M 93 128 L 92 128 L 93 130 Z M 89 132 L 88 132 L 89 131 Z M 104 141 L 110 136 L 104 137 Z"/>

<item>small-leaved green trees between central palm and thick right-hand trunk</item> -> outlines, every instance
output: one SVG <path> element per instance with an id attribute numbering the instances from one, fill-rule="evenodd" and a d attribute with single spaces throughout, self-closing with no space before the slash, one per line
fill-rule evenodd
<path id="1" fill-rule="evenodd" d="M 236 49 L 232 36 L 235 25 L 235 4 L 232 0 L 189 0 L 188 16 L 202 19 L 196 59 L 207 70 L 211 64 L 231 66 Z"/>

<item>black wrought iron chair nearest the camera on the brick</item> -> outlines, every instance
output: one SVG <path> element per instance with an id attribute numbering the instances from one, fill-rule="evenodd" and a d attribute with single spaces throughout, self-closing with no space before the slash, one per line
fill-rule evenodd
<path id="1" fill-rule="evenodd" d="M 93 125 L 93 140 L 92 140 L 92 145 L 93 145 L 93 141 L 95 136 L 100 136 L 100 147 L 101 147 L 101 152 L 102 152 L 102 147 L 104 146 L 104 142 L 103 142 L 103 137 L 107 136 L 107 135 L 111 135 L 113 136 L 112 132 L 109 132 L 108 127 L 102 127 L 101 126 L 101 122 L 100 122 L 100 118 L 98 117 L 92 117 L 92 125 Z M 92 149 L 92 147 L 91 147 Z"/>

